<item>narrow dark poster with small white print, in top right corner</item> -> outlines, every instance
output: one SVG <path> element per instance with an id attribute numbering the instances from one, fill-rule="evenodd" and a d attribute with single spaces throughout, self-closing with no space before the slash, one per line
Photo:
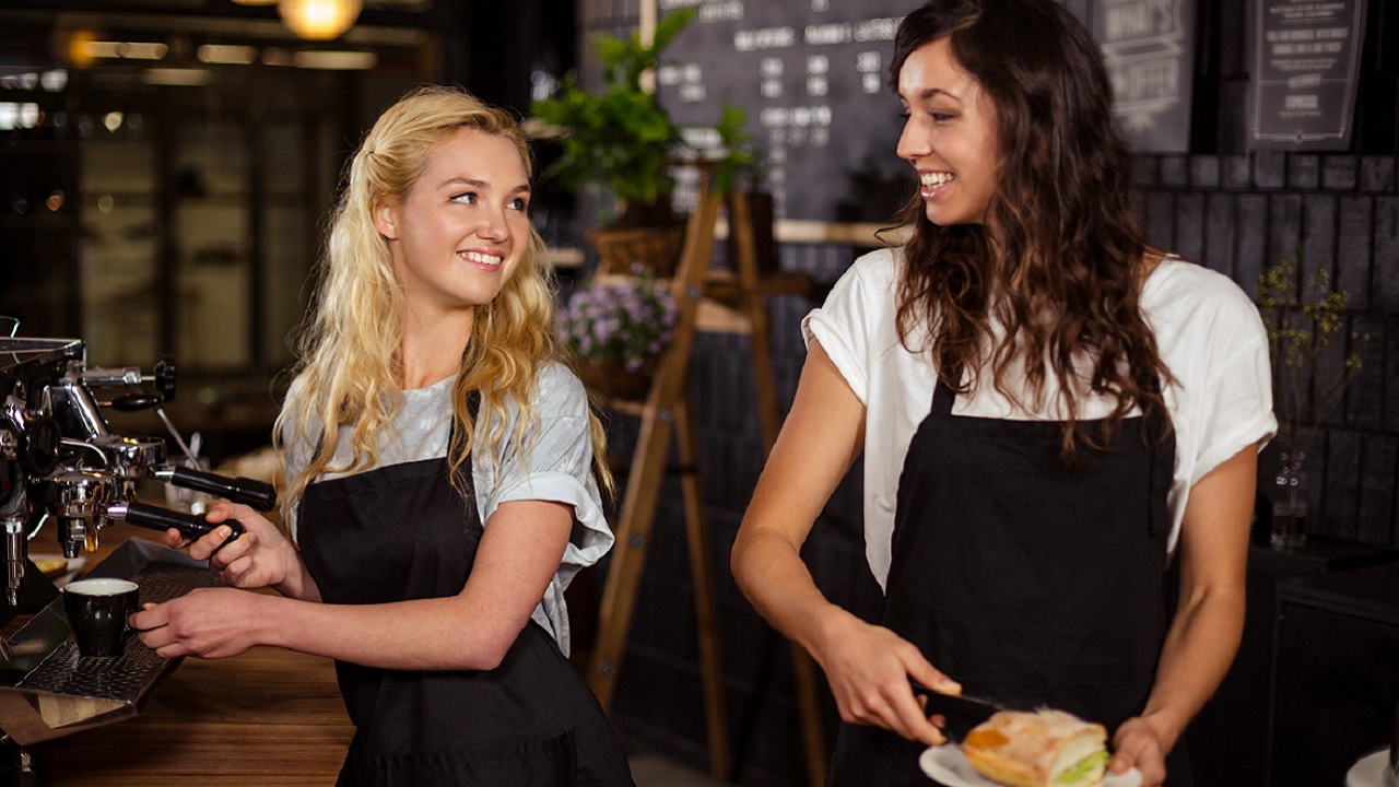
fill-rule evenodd
<path id="1" fill-rule="evenodd" d="M 1254 147 L 1346 150 L 1364 0 L 1259 0 L 1255 18 Z"/>

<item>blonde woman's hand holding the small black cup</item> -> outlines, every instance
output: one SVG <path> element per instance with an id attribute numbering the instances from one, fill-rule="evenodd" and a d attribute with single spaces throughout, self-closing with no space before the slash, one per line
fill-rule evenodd
<path id="1" fill-rule="evenodd" d="M 196 588 L 165 604 L 147 604 L 130 623 L 161 658 L 227 658 L 259 644 L 255 632 L 263 598 L 234 588 Z"/>

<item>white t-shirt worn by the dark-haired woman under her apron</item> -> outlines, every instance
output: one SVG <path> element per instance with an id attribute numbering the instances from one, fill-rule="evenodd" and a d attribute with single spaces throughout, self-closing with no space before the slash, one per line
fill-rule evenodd
<path id="1" fill-rule="evenodd" d="M 865 405 L 865 555 L 880 587 L 888 574 L 898 476 L 914 431 L 928 416 L 937 382 L 925 329 L 898 339 L 897 297 L 902 253 L 870 252 L 855 260 L 821 308 L 802 321 Z M 1164 398 L 1175 434 L 1175 472 L 1168 493 L 1175 550 L 1191 487 L 1248 445 L 1273 436 L 1267 333 L 1248 295 L 1228 277 L 1168 256 L 1146 280 L 1142 309 L 1161 360 L 1175 377 Z M 982 375 L 983 379 L 989 374 Z M 1013 382 L 1011 382 L 1013 384 Z M 1051 379 L 1046 389 L 1055 386 Z M 1081 417 L 1102 417 L 1108 402 L 1084 402 Z M 1059 420 L 1014 406 L 995 386 L 958 396 L 954 415 Z"/>

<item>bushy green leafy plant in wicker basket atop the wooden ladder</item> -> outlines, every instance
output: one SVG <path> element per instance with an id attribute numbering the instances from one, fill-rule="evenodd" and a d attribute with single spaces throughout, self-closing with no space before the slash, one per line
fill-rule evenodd
<path id="1" fill-rule="evenodd" d="M 627 38 L 595 36 L 593 48 L 603 67 L 602 90 L 589 91 L 569 74 L 557 92 L 532 104 L 541 125 L 540 136 L 554 137 L 561 146 L 560 157 L 544 176 L 572 190 L 597 183 L 617 200 L 616 218 L 589 232 L 604 270 L 620 273 L 639 260 L 667 274 L 680 256 L 684 223 L 672 207 L 676 183 L 670 167 L 688 150 L 680 126 L 642 78 L 648 71 L 655 73 L 662 52 L 697 11 L 665 14 L 649 45 L 637 32 Z M 715 162 L 715 189 L 726 190 L 737 168 L 753 161 L 743 147 L 747 141 L 743 123 L 743 109 L 725 105 L 715 126 L 723 147 Z"/>

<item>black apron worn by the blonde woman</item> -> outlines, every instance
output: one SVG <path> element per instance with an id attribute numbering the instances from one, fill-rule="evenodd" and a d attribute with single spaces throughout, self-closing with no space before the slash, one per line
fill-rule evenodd
<path id="1" fill-rule="evenodd" d="M 442 458 L 309 485 L 299 532 L 326 604 L 386 604 L 459 594 L 483 527 Z M 340 787 L 632 786 L 596 697 L 533 620 L 491 671 L 336 675 L 355 725 Z"/>

